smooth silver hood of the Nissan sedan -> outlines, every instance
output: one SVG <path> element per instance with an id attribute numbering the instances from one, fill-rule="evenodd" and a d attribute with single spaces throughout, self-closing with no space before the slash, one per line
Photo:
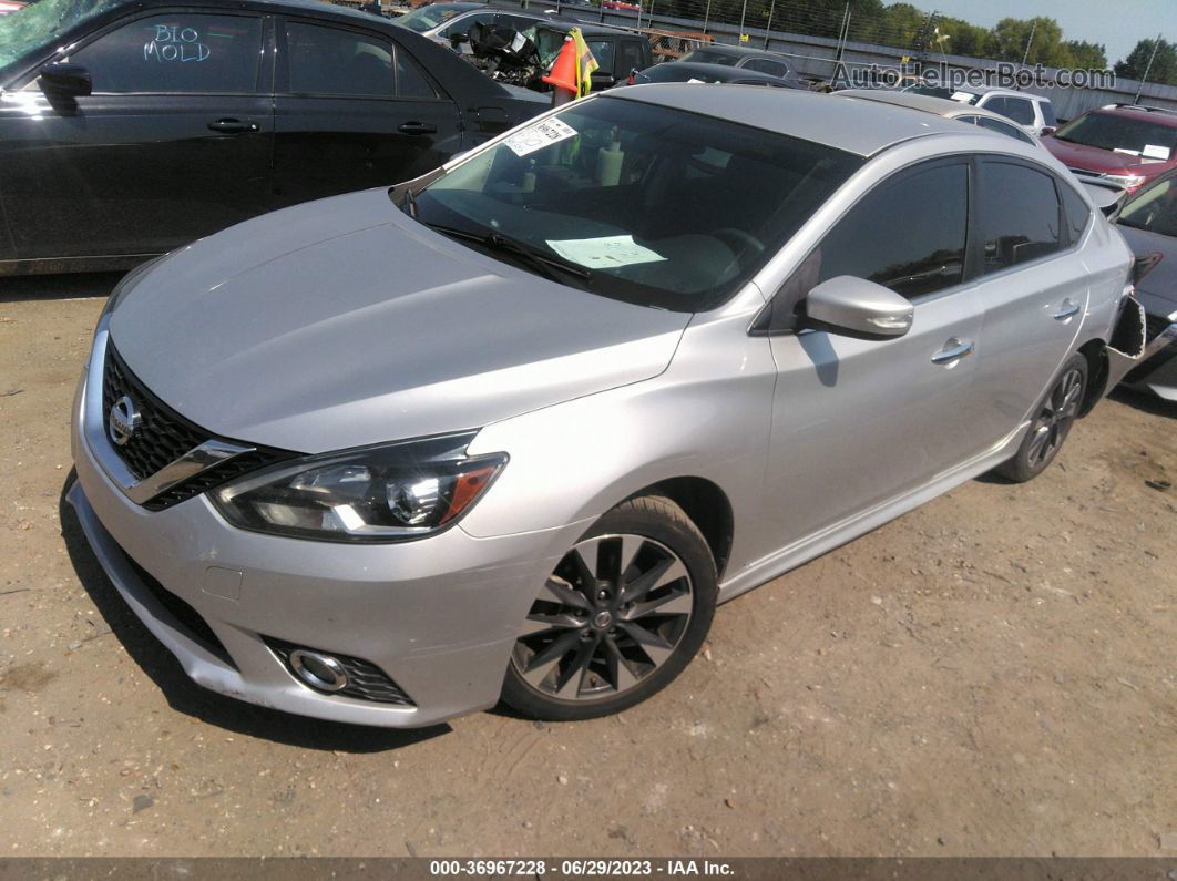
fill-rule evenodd
<path id="1" fill-rule="evenodd" d="M 131 371 L 193 422 L 318 453 L 656 376 L 689 321 L 500 263 L 377 189 L 174 252 L 133 283 L 109 329 Z"/>

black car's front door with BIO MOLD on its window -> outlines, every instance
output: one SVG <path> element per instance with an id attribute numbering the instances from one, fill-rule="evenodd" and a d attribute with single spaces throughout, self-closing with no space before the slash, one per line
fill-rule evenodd
<path id="1" fill-rule="evenodd" d="M 273 128 L 260 15 L 121 19 L 69 61 L 93 94 L 31 79 L 0 111 L 0 193 L 18 259 L 153 254 L 268 207 Z"/>

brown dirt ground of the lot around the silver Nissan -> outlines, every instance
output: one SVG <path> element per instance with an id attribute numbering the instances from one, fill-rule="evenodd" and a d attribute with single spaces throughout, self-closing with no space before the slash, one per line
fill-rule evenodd
<path id="1" fill-rule="evenodd" d="M 62 507 L 112 281 L 0 281 L 0 855 L 1177 854 L 1177 409 L 723 607 L 621 716 L 352 728 L 191 685 Z"/>

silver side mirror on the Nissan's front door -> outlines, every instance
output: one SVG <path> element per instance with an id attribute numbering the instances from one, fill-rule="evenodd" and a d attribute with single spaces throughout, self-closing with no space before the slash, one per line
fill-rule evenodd
<path id="1" fill-rule="evenodd" d="M 852 275 L 823 281 L 805 298 L 805 316 L 831 333 L 869 340 L 903 336 L 916 307 L 890 288 Z"/>

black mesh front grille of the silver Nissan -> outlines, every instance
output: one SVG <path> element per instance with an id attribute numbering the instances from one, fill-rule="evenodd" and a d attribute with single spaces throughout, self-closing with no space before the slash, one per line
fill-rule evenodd
<path id="1" fill-rule="evenodd" d="M 107 433 L 111 427 L 111 408 L 124 395 L 134 401 L 141 421 L 131 439 L 122 446 L 115 446 L 114 450 L 137 480 L 149 478 L 208 440 L 253 447 L 251 452 L 202 470 L 154 496 L 144 503 L 148 510 L 162 510 L 247 472 L 265 468 L 298 455 L 285 449 L 259 447 L 244 441 L 220 438 L 188 421 L 157 398 L 131 372 L 113 343 L 108 342 L 106 363 L 102 371 L 102 428 Z"/>

